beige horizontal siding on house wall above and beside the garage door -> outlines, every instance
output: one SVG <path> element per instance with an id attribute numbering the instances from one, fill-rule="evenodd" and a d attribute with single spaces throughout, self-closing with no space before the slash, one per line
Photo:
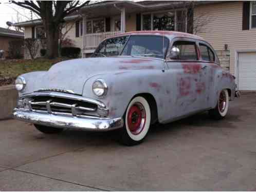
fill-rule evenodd
<path id="1" fill-rule="evenodd" d="M 256 48 L 256 29 L 242 30 L 243 2 L 225 2 L 201 5 L 194 16 L 208 14 L 212 18 L 198 36 L 207 40 L 215 50 L 230 50 L 230 72 L 234 74 L 235 50 Z"/>

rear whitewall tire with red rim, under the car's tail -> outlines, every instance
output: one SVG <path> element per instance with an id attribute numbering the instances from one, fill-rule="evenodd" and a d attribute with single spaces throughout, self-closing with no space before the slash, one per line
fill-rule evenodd
<path id="1" fill-rule="evenodd" d="M 228 113 L 229 96 L 228 90 L 222 90 L 218 96 L 218 102 L 214 109 L 209 111 L 209 114 L 214 119 L 223 119 Z"/>

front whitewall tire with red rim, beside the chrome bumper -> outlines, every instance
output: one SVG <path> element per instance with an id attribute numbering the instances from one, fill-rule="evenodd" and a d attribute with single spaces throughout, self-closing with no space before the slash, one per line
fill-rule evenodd
<path id="1" fill-rule="evenodd" d="M 128 146 L 141 143 L 148 134 L 150 122 L 151 110 L 148 101 L 141 96 L 133 98 L 124 114 L 121 143 Z"/>

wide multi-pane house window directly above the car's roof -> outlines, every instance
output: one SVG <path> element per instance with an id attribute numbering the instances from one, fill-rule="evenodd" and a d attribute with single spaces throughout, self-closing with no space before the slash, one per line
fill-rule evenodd
<path id="1" fill-rule="evenodd" d="M 186 32 L 185 10 L 142 14 L 142 30 L 164 30 Z"/>

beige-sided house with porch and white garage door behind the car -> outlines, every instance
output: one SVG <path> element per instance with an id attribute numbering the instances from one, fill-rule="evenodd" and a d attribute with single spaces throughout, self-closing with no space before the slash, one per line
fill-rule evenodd
<path id="1" fill-rule="evenodd" d="M 256 91 L 256 2 L 106 1 L 89 4 L 65 18 L 66 37 L 82 50 L 94 52 L 107 37 L 140 30 L 195 33 L 209 41 L 222 66 L 236 76 L 239 90 Z M 41 20 L 14 24 L 25 38 L 42 36 Z M 67 30 L 69 29 L 69 30 Z"/>

